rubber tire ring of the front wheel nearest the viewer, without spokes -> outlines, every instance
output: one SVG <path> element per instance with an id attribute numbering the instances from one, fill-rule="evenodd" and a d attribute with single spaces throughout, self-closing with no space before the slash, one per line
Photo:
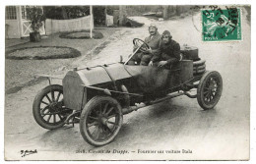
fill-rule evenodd
<path id="1" fill-rule="evenodd" d="M 106 141 L 102 141 L 102 142 L 97 142 L 94 139 L 92 139 L 89 134 L 87 133 L 87 131 L 85 130 L 85 124 L 84 122 L 86 122 L 86 119 L 91 111 L 91 108 L 94 108 L 98 102 L 100 101 L 109 101 L 111 104 L 116 105 L 118 112 L 120 113 L 120 120 L 119 120 L 119 127 L 117 128 L 117 130 L 115 131 L 114 135 L 112 137 L 110 137 L 109 139 L 107 139 Z M 82 137 L 90 144 L 94 145 L 94 146 L 102 146 L 105 145 L 109 142 L 111 142 L 119 133 L 120 129 L 121 129 L 121 125 L 123 122 L 123 115 L 122 115 L 122 110 L 121 110 L 121 106 L 118 103 L 117 100 L 115 100 L 114 98 L 110 97 L 110 96 L 98 96 L 96 95 L 95 97 L 93 97 L 84 107 L 82 113 L 81 113 L 81 117 L 80 117 L 80 124 L 79 124 L 79 128 L 80 128 L 80 133 L 82 135 Z"/>

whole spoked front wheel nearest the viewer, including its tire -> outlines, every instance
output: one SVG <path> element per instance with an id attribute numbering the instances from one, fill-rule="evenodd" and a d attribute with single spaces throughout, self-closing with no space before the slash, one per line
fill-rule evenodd
<path id="1" fill-rule="evenodd" d="M 122 121 L 121 106 L 114 98 L 95 96 L 82 111 L 80 133 L 90 144 L 104 145 L 117 136 Z"/>

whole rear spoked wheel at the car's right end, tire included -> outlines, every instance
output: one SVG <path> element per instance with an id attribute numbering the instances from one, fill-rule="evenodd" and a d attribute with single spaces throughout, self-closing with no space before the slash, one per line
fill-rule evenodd
<path id="1" fill-rule="evenodd" d="M 203 109 L 212 109 L 216 106 L 223 92 L 223 79 L 220 73 L 206 72 L 197 89 L 197 101 Z"/>

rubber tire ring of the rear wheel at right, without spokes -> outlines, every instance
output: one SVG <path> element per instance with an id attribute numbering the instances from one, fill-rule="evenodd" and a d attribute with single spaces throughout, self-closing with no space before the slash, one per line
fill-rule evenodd
<path id="1" fill-rule="evenodd" d="M 218 92 L 218 97 L 217 99 L 215 100 L 215 102 L 213 104 L 206 104 L 204 102 L 204 96 L 203 95 L 203 87 L 205 86 L 205 83 L 207 82 L 207 80 L 211 77 L 211 76 L 217 76 L 219 79 L 220 79 L 220 91 Z M 208 110 L 208 109 L 213 109 L 216 104 L 219 102 L 221 96 L 222 96 L 222 92 L 223 92 L 223 79 L 222 79 L 222 76 L 219 72 L 217 71 L 207 71 L 202 79 L 200 80 L 199 82 L 199 85 L 198 85 L 198 88 L 197 88 L 197 101 L 198 101 L 198 104 L 204 109 L 204 110 Z"/>

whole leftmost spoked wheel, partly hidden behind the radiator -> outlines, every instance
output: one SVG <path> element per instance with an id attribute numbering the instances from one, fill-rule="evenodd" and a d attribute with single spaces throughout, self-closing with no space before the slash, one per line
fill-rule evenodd
<path id="1" fill-rule="evenodd" d="M 48 130 L 62 127 L 72 110 L 63 108 L 63 87 L 52 84 L 44 87 L 34 98 L 33 118 L 38 125 Z"/>

